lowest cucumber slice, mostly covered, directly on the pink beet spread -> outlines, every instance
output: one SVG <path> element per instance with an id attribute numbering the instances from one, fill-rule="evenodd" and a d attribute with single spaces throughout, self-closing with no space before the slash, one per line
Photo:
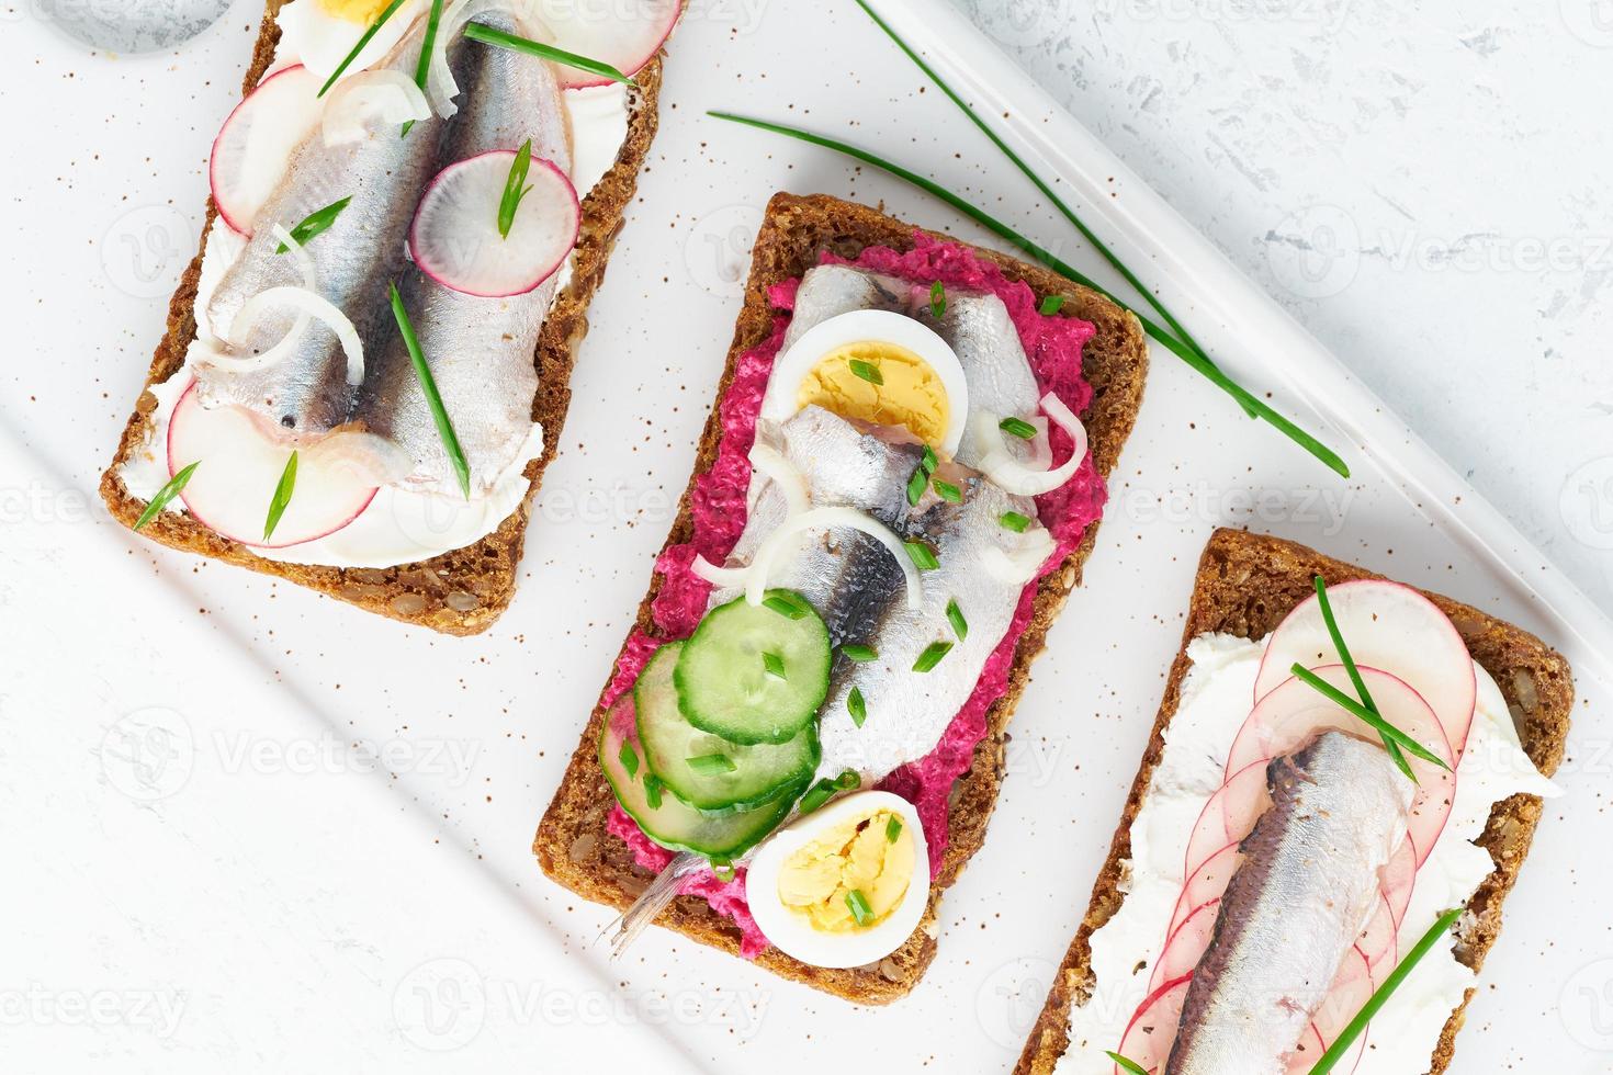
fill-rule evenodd
<path id="1" fill-rule="evenodd" d="M 761 843 L 806 788 L 805 783 L 792 785 L 755 809 L 724 814 L 703 814 L 673 795 L 656 795 L 645 785 L 653 774 L 644 762 L 631 695 L 623 695 L 605 717 L 600 730 L 600 769 L 605 770 L 616 801 L 644 835 L 671 851 L 694 851 L 711 859 L 736 859 Z"/>

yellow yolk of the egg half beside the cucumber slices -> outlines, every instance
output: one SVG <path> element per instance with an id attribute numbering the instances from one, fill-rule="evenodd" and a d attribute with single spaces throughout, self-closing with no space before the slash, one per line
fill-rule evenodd
<path id="1" fill-rule="evenodd" d="M 913 835 L 907 825 L 890 838 L 890 811 L 836 825 L 797 848 L 779 867 L 779 903 L 823 933 L 850 933 L 879 925 L 913 880 Z M 857 922 L 852 893 L 861 893 L 871 917 Z"/>

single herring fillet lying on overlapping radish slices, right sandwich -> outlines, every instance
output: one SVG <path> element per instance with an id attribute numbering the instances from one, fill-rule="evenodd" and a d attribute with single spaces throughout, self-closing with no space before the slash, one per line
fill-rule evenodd
<path id="1" fill-rule="evenodd" d="M 1376 743 L 1324 732 L 1266 769 L 1165 1075 L 1281 1075 L 1378 906 L 1415 787 Z M 1319 1059 L 1319 1057 L 1318 1057 Z"/>

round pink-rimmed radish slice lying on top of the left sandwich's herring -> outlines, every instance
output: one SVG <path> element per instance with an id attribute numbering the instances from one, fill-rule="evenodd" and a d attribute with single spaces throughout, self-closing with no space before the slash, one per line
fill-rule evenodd
<path id="1" fill-rule="evenodd" d="M 577 245 L 577 190 L 552 161 L 532 160 L 531 192 L 510 235 L 498 234 L 498 206 L 515 150 L 490 150 L 448 164 L 426 187 L 410 227 L 410 253 L 444 287 L 477 298 L 524 295 L 547 280 Z"/>

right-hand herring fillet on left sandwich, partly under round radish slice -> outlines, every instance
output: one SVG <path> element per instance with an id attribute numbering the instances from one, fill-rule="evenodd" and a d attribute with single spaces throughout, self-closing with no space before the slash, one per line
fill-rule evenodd
<path id="1" fill-rule="evenodd" d="M 510 16 L 489 13 L 484 21 L 521 32 Z M 516 150 L 531 139 L 534 160 L 552 160 L 571 172 L 569 131 L 552 64 L 468 42 L 456 68 L 468 100 L 450 121 L 444 164 L 490 150 Z M 523 211 L 537 208 L 523 203 Z M 537 395 L 534 351 L 556 285 L 552 276 L 526 295 L 477 298 L 444 287 L 415 268 L 408 268 L 398 284 L 421 353 L 465 451 L 473 496 L 489 492 L 527 443 Z M 374 358 L 355 417 L 408 453 L 413 471 L 403 482 L 406 487 L 460 496 L 436 419 L 397 332 Z"/>

